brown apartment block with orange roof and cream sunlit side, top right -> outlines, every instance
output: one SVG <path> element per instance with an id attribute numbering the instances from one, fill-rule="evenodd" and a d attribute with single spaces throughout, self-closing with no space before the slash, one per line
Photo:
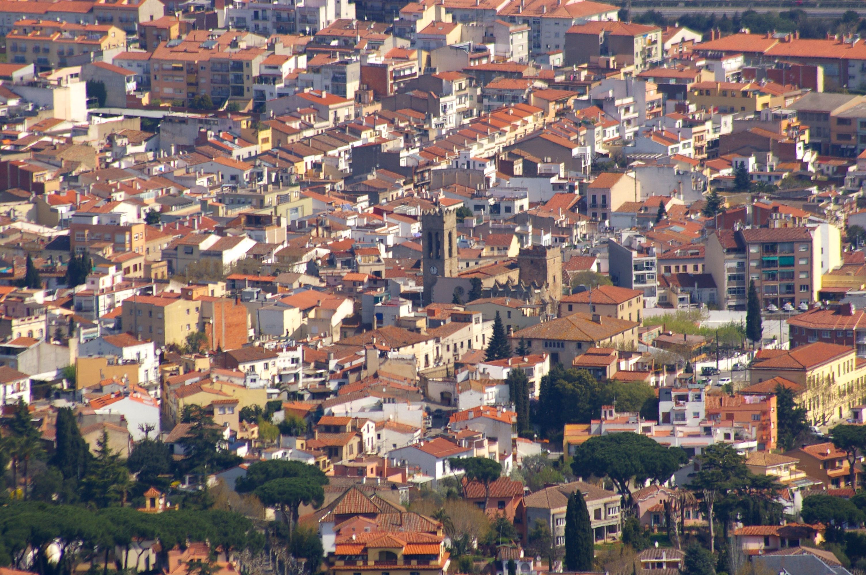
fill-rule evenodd
<path id="1" fill-rule="evenodd" d="M 559 48 L 559 47 L 557 47 Z M 586 22 L 565 31 L 565 65 L 613 57 L 641 72 L 662 61 L 662 29 L 629 22 Z"/>

